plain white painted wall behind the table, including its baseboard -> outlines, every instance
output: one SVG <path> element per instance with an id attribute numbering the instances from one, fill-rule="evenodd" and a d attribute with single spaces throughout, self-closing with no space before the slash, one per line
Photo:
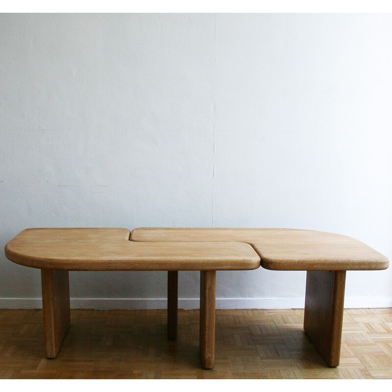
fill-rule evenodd
<path id="1" fill-rule="evenodd" d="M 391 14 L 1 14 L 0 245 L 26 227 L 289 227 L 392 258 Z M 164 272 L 71 272 L 73 307 L 164 307 Z M 181 272 L 180 306 L 198 307 Z M 301 307 L 304 272 L 220 272 Z M 0 307 L 40 307 L 0 255 Z M 235 298 L 235 300 L 227 300 Z M 392 269 L 346 306 L 392 306 Z"/>

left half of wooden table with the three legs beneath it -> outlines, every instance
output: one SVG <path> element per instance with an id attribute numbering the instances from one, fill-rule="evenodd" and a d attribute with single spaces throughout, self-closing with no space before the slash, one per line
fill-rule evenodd
<path id="1" fill-rule="evenodd" d="M 245 243 L 132 242 L 119 228 L 36 228 L 5 246 L 6 257 L 41 269 L 45 350 L 54 358 L 70 325 L 69 271 L 168 271 L 168 335 L 177 328 L 179 270 L 200 271 L 200 354 L 214 367 L 217 270 L 252 270 L 260 257 Z"/>

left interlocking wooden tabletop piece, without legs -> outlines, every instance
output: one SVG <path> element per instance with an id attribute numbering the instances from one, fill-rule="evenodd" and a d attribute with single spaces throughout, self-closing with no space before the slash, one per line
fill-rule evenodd
<path id="1" fill-rule="evenodd" d="M 5 246 L 6 257 L 55 270 L 253 270 L 260 257 L 245 243 L 142 243 L 117 228 L 36 228 Z"/>

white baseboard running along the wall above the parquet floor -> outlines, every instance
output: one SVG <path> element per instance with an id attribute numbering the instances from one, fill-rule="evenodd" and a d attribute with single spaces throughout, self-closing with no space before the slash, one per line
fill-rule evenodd
<path id="1" fill-rule="evenodd" d="M 217 309 L 302 309 L 302 297 L 217 298 Z M 72 309 L 166 309 L 166 298 L 71 298 Z M 41 309 L 41 298 L 0 298 L 0 309 Z M 198 298 L 179 298 L 179 309 L 198 309 Z M 344 308 L 392 308 L 392 297 L 346 297 Z"/>

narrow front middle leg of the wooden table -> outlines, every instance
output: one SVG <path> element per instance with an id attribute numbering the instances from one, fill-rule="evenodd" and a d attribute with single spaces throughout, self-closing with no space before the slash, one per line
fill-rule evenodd
<path id="1" fill-rule="evenodd" d="M 215 276 L 216 271 L 200 271 L 200 354 L 204 369 L 215 360 Z"/>

